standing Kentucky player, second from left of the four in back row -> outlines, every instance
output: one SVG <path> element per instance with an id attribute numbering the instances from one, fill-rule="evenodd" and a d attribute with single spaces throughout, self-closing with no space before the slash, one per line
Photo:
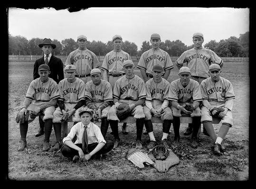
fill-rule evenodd
<path id="1" fill-rule="evenodd" d="M 103 79 L 111 84 L 113 91 L 117 79 L 125 75 L 123 71 L 123 61 L 132 60 L 132 58 L 127 52 L 122 50 L 123 38 L 121 35 L 114 35 L 112 41 L 114 50 L 105 55 L 101 70 L 103 72 Z M 128 134 L 128 132 L 126 132 L 126 125 L 127 123 L 123 123 L 123 134 Z"/>

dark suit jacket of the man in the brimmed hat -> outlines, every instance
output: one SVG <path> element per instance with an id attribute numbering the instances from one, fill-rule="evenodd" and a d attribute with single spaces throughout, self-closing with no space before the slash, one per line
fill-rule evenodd
<path id="1" fill-rule="evenodd" d="M 38 74 L 38 67 L 41 64 L 45 64 L 44 57 L 36 60 L 34 64 L 34 79 L 40 77 Z M 48 66 L 50 67 L 51 73 L 49 77 L 51 77 L 56 83 L 58 84 L 60 80 L 64 79 L 64 71 L 63 71 L 63 62 L 61 59 L 57 58 L 56 56 L 51 56 Z"/>

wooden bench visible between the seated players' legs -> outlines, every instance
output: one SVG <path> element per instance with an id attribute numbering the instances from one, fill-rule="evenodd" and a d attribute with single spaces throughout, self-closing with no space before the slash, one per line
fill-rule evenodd
<path id="1" fill-rule="evenodd" d="M 61 123 L 62 138 L 66 137 L 68 134 L 67 123 L 72 122 L 70 120 L 67 120 L 66 122 Z M 161 120 L 160 117 L 152 116 L 151 120 L 152 120 L 152 123 L 162 123 L 163 122 L 163 120 Z M 220 122 L 219 118 L 213 117 L 213 119 L 212 119 L 213 124 L 218 124 L 219 122 Z M 133 116 L 129 116 L 129 117 L 125 118 L 124 120 L 121 120 L 120 123 L 136 123 L 136 119 Z M 190 117 L 190 115 L 182 114 L 180 117 L 180 123 L 192 123 L 192 118 Z M 199 132 L 201 132 L 201 126 L 199 127 Z"/>

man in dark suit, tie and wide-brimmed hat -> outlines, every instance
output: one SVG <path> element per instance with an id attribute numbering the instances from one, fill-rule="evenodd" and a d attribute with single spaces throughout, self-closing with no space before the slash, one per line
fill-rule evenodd
<path id="1" fill-rule="evenodd" d="M 51 73 L 49 74 L 49 77 L 55 80 L 58 84 L 60 80 L 64 79 L 64 71 L 63 71 L 62 60 L 53 56 L 51 53 L 52 50 L 56 48 L 56 45 L 52 43 L 51 39 L 45 38 L 42 43 L 38 44 L 38 46 L 44 52 L 44 56 L 36 60 L 34 64 L 34 73 L 33 73 L 34 79 L 40 77 L 38 74 L 38 67 L 41 64 L 47 64 L 50 67 L 50 71 L 51 71 Z M 38 130 L 38 133 L 36 134 L 36 137 L 39 137 L 45 133 L 44 121 L 40 118 L 40 116 L 39 116 L 39 125 L 40 125 L 40 128 Z"/>

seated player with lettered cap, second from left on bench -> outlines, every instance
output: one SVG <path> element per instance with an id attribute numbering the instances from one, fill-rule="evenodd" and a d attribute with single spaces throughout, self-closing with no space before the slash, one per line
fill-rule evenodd
<path id="1" fill-rule="evenodd" d="M 78 115 L 79 110 L 85 107 L 85 83 L 82 79 L 77 78 L 76 66 L 73 64 L 66 65 L 66 78 L 58 84 L 60 97 L 57 100 L 58 107 L 53 113 L 53 128 L 56 136 L 54 150 L 61 146 L 61 122 L 72 119 L 74 125 L 81 121 Z"/>

